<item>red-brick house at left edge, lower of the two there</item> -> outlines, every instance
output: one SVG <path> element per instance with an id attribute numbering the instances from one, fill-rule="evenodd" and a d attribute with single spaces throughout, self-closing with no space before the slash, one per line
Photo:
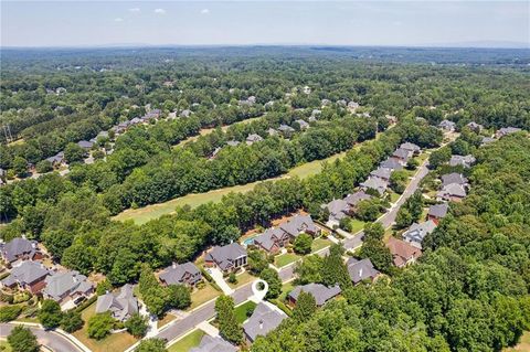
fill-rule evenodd
<path id="1" fill-rule="evenodd" d="M 13 267 L 11 274 L 0 281 L 2 287 L 19 288 L 31 294 L 39 294 L 45 286 L 50 271 L 39 262 L 25 260 Z"/>

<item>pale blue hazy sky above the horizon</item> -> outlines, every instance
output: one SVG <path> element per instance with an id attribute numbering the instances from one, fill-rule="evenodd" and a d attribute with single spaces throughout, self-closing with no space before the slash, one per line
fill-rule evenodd
<path id="1" fill-rule="evenodd" d="M 530 1 L 1 0 L 1 46 L 530 47 Z"/>

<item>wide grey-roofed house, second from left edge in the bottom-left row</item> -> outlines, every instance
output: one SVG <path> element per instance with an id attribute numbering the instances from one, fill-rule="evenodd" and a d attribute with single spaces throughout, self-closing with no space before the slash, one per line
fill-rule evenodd
<path id="1" fill-rule="evenodd" d="M 46 287 L 42 290 L 45 299 L 53 299 L 60 305 L 70 300 L 76 303 L 81 298 L 87 298 L 94 292 L 94 286 L 86 276 L 76 270 L 51 273 L 46 277 Z"/>

